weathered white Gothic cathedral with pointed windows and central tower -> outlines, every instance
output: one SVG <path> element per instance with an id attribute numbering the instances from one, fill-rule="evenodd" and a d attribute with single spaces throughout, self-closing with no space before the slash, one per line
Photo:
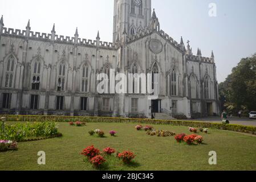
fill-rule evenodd
<path id="1" fill-rule="evenodd" d="M 0 114 L 187 118 L 220 114 L 214 55 L 160 29 L 151 0 L 115 0 L 113 43 L 6 28 L 0 20 Z M 159 73 L 159 98 L 99 94 L 99 73 Z M 128 77 L 128 76 L 127 76 Z M 131 83 L 127 83 L 131 84 Z M 131 86 L 127 86 L 131 89 Z M 136 88 L 137 89 L 137 88 Z M 127 92 L 128 93 L 128 92 Z"/>

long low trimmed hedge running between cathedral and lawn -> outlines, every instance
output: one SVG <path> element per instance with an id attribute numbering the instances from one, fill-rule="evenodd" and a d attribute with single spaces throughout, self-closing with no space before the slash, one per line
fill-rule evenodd
<path id="1" fill-rule="evenodd" d="M 249 133 L 256 135 L 256 127 L 242 125 L 225 125 L 222 123 L 209 123 L 198 121 L 180 121 L 180 120 L 158 120 L 158 119 L 133 119 L 133 118 L 109 118 L 109 117 L 71 117 L 56 115 L 1 115 L 6 117 L 7 121 L 26 121 L 26 122 L 99 122 L 99 123 L 141 123 L 151 125 L 172 125 L 172 126 L 189 126 L 203 127 L 218 130 L 237 131 L 241 133 Z"/>

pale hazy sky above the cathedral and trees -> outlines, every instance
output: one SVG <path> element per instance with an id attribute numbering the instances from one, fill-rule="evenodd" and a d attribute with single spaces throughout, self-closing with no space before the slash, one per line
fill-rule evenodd
<path id="1" fill-rule="evenodd" d="M 209 3 L 216 3 L 217 17 L 208 15 Z M 216 57 L 218 81 L 224 81 L 242 57 L 256 52 L 255 0 L 152 0 L 161 29 L 180 42 L 190 40 L 193 53 Z M 112 42 L 113 0 L 0 0 L 5 27 Z"/>

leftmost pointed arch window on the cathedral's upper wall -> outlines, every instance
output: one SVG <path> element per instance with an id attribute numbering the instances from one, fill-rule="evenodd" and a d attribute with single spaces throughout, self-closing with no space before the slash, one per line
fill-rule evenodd
<path id="1" fill-rule="evenodd" d="M 7 60 L 7 68 L 6 68 L 6 75 L 5 75 L 6 88 L 13 87 L 14 65 L 15 65 L 14 57 L 10 56 L 9 59 Z"/>

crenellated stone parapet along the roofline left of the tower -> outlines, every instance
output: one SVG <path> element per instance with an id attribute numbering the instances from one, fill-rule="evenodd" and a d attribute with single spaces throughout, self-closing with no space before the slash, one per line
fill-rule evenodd
<path id="1" fill-rule="evenodd" d="M 46 34 L 46 33 L 40 33 L 40 32 L 33 32 L 33 31 L 29 31 L 29 35 L 26 35 L 26 34 L 27 34 L 26 30 L 18 30 L 18 29 L 14 30 L 14 28 L 3 27 L 1 30 L 1 35 L 17 36 L 22 39 L 29 38 L 29 39 L 37 39 L 37 40 L 42 40 L 47 42 L 54 40 L 54 42 L 66 43 L 66 44 L 75 44 L 75 40 L 76 40 L 75 37 L 63 36 L 63 35 L 52 35 L 52 34 Z M 53 39 L 52 39 L 52 36 L 54 36 Z M 97 42 L 96 40 L 78 38 L 77 44 L 80 46 L 96 47 L 96 42 Z M 116 48 L 113 43 L 102 42 L 102 41 L 99 42 L 99 47 L 107 48 L 107 49 Z"/>

